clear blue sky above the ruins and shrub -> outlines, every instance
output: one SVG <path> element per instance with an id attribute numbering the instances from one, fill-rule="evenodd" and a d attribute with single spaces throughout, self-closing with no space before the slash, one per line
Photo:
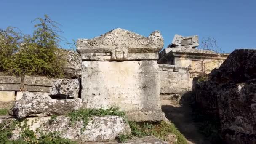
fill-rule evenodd
<path id="1" fill-rule="evenodd" d="M 0 28 L 31 34 L 31 21 L 47 14 L 70 42 L 120 27 L 144 36 L 159 30 L 165 47 L 180 34 L 212 36 L 226 53 L 256 48 L 256 0 L 1 0 L 0 5 Z"/>

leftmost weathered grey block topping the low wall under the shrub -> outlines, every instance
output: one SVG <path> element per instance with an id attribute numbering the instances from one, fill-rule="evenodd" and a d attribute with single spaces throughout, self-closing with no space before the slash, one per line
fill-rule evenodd
<path id="1" fill-rule="evenodd" d="M 2 76 L 0 77 L 0 91 L 19 91 L 21 77 Z"/>

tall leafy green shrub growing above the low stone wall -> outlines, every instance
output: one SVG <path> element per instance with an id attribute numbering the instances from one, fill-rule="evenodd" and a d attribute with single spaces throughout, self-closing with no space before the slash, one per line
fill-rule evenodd
<path id="1" fill-rule="evenodd" d="M 4 47 L 0 49 L 0 68 L 15 75 L 64 77 L 66 60 L 58 50 L 61 41 L 58 23 L 47 15 L 34 21 L 39 23 L 35 24 L 32 36 L 21 37 L 11 28 L 0 31 L 0 37 L 3 37 L 0 47 Z"/>

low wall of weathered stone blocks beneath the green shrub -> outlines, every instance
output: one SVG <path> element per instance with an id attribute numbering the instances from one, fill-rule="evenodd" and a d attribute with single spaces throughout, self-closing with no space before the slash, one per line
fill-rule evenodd
<path id="1" fill-rule="evenodd" d="M 11 108 L 16 100 L 21 99 L 24 91 L 48 95 L 50 88 L 58 79 L 48 77 L 25 76 L 0 77 L 0 108 Z"/>

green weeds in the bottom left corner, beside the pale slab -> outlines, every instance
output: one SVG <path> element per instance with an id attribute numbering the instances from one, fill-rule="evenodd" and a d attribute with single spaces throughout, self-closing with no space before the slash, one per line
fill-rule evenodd
<path id="1" fill-rule="evenodd" d="M 20 137 L 18 140 L 9 140 L 15 128 L 21 129 Z M 40 133 L 40 137 L 37 137 L 35 132 L 29 128 L 30 125 L 26 121 L 23 125 L 16 120 L 0 123 L 0 144 L 76 144 L 75 141 L 61 138 L 59 132 L 42 133 L 37 129 L 37 132 Z"/>

